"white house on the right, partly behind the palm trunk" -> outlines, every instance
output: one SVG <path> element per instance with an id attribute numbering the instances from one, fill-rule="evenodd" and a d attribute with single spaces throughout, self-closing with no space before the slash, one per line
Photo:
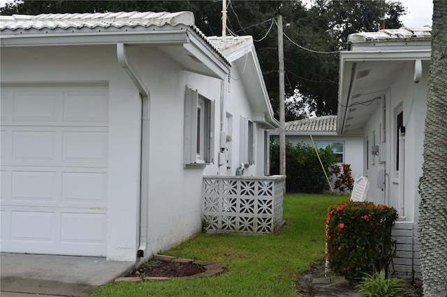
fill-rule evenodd
<path id="1" fill-rule="evenodd" d="M 422 176 L 431 28 L 349 36 L 340 54 L 337 132 L 362 134 L 367 200 L 397 209 L 393 231 L 402 277 L 420 277 L 418 193 Z"/>

